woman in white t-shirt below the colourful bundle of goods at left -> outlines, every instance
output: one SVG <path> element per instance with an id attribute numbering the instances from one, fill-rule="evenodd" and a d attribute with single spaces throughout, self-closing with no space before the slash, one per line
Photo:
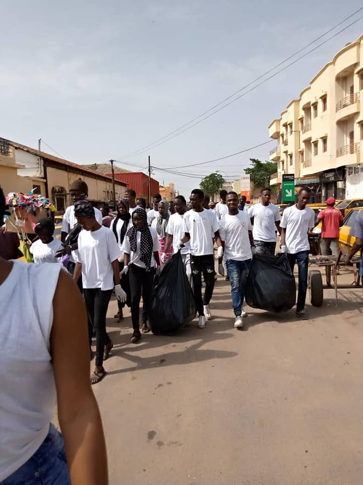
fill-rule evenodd
<path id="1" fill-rule="evenodd" d="M 61 259 L 56 258 L 55 253 L 57 251 L 62 251 L 63 246 L 60 239 L 53 237 L 54 222 L 48 218 L 40 219 L 36 224 L 34 231 L 39 237 L 29 249 L 33 255 L 34 263 L 61 264 Z"/>

